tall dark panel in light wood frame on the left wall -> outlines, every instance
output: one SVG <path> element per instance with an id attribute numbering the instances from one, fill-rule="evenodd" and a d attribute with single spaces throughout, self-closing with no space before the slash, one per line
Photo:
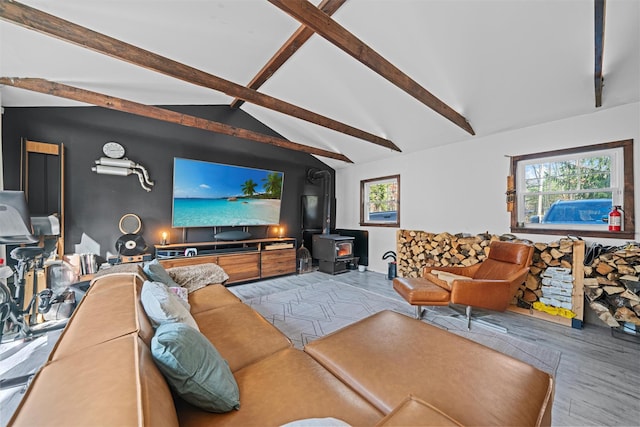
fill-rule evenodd
<path id="1" fill-rule="evenodd" d="M 60 221 L 58 256 L 64 254 L 64 145 L 22 140 L 20 189 L 31 216 L 55 215 Z"/>

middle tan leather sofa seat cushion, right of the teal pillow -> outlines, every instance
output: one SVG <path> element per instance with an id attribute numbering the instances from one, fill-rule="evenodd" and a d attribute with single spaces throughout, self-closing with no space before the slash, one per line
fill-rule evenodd
<path id="1" fill-rule="evenodd" d="M 246 304 L 229 304 L 193 317 L 232 372 L 292 346 L 289 338 Z"/>

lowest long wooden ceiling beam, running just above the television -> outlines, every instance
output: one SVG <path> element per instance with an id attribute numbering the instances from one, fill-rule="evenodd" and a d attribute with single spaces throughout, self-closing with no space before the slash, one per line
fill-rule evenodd
<path id="1" fill-rule="evenodd" d="M 343 154 L 334 153 L 332 151 L 322 150 L 308 145 L 298 144 L 296 142 L 287 141 L 286 139 L 276 138 L 262 133 L 254 132 L 248 129 L 230 126 L 224 123 L 207 120 L 188 114 L 177 113 L 165 108 L 154 107 L 137 102 L 128 101 L 122 98 L 116 98 L 104 95 L 98 92 L 92 92 L 62 83 L 51 82 L 44 79 L 32 78 L 14 78 L 0 77 L 0 85 L 13 86 L 34 92 L 53 95 L 60 98 L 72 99 L 74 101 L 84 102 L 98 107 L 109 108 L 111 110 L 122 111 L 125 113 L 135 114 L 137 116 L 148 117 L 151 119 L 162 120 L 164 122 L 175 123 L 182 126 L 202 129 L 210 132 L 221 133 L 224 135 L 234 136 L 236 138 L 248 139 L 250 141 L 271 144 L 281 148 L 287 148 L 295 151 L 302 151 L 308 154 L 315 154 L 322 157 L 341 160 L 343 162 L 353 163 Z"/>

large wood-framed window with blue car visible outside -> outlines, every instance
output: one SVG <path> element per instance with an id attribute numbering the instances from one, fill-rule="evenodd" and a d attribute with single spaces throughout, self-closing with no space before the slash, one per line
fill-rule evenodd
<path id="1" fill-rule="evenodd" d="M 634 238 L 633 140 L 515 156 L 511 162 L 512 232 Z M 622 231 L 609 231 L 612 206 L 624 212 Z"/>

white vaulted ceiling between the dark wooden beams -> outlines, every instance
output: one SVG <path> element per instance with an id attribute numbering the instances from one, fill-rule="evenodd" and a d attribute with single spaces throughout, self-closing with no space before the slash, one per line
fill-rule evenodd
<path id="1" fill-rule="evenodd" d="M 299 26 L 266 0 L 22 3 L 242 85 Z M 606 5 L 602 109 L 640 101 L 640 1 Z M 466 117 L 477 136 L 317 35 L 260 91 L 388 138 L 404 153 L 596 110 L 593 0 L 347 0 L 333 18 Z M 0 49 L 3 77 L 40 77 L 144 104 L 232 100 L 9 22 L 0 21 Z M 0 91 L 7 107 L 80 105 Z M 287 139 L 355 163 L 398 155 L 262 107 L 241 108 Z"/>

